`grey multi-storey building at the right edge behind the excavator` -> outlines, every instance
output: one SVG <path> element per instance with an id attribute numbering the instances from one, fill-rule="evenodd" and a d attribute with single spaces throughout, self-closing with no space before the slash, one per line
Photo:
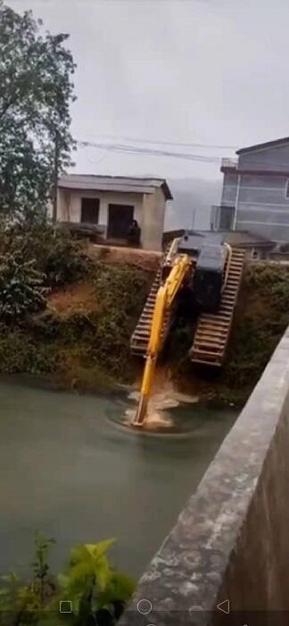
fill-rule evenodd
<path id="1" fill-rule="evenodd" d="M 213 230 L 247 231 L 289 242 L 289 137 L 252 145 L 223 159 L 221 202 L 212 208 Z"/>

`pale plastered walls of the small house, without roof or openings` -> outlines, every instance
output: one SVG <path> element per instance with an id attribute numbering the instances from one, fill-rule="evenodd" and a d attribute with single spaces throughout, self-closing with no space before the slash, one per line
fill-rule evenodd
<path id="1" fill-rule="evenodd" d="M 154 194 L 128 194 L 125 192 L 89 192 L 58 189 L 58 219 L 78 223 L 81 198 L 98 198 L 99 225 L 108 226 L 109 204 L 128 204 L 135 207 L 134 218 L 141 228 L 141 243 L 145 250 L 161 251 L 165 197 L 161 188 Z"/>

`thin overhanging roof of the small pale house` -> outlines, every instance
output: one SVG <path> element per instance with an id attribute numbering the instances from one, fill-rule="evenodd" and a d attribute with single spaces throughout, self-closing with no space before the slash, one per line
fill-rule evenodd
<path id="1" fill-rule="evenodd" d="M 63 189 L 127 192 L 130 194 L 153 194 L 155 189 L 161 187 L 167 200 L 172 200 L 173 197 L 164 178 L 67 174 L 59 179 L 58 186 Z"/>

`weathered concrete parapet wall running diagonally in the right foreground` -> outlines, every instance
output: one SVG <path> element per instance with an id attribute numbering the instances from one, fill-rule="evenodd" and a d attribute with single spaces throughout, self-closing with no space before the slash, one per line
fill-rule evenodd
<path id="1" fill-rule="evenodd" d="M 277 622 L 268 622 L 264 614 L 257 621 L 251 613 L 289 610 L 288 450 L 287 330 L 177 525 L 143 575 L 122 626 L 288 623 L 285 613 L 278 613 Z M 149 503 L 144 515 L 149 515 Z M 142 598 L 153 605 L 149 615 L 136 611 Z M 215 611 L 227 598 L 230 617 Z"/>

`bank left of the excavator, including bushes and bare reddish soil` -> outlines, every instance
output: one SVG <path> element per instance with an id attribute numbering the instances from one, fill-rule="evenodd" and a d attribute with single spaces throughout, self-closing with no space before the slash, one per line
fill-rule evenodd
<path id="1" fill-rule="evenodd" d="M 150 273 L 91 261 L 45 224 L 0 225 L 0 373 L 106 389 L 131 382 L 129 337 Z"/>

